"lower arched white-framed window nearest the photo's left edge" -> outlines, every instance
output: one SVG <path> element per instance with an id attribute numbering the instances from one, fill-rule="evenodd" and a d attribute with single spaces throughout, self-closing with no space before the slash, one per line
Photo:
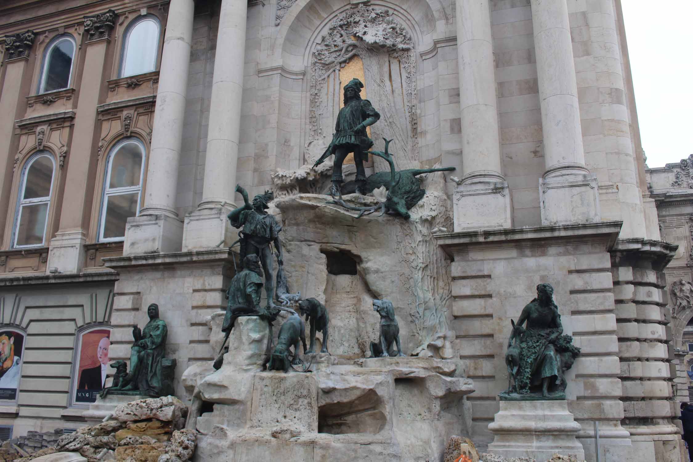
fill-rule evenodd
<path id="1" fill-rule="evenodd" d="M 19 186 L 14 247 L 43 245 L 54 170 L 53 157 L 46 152 L 35 154 L 24 166 Z"/>

